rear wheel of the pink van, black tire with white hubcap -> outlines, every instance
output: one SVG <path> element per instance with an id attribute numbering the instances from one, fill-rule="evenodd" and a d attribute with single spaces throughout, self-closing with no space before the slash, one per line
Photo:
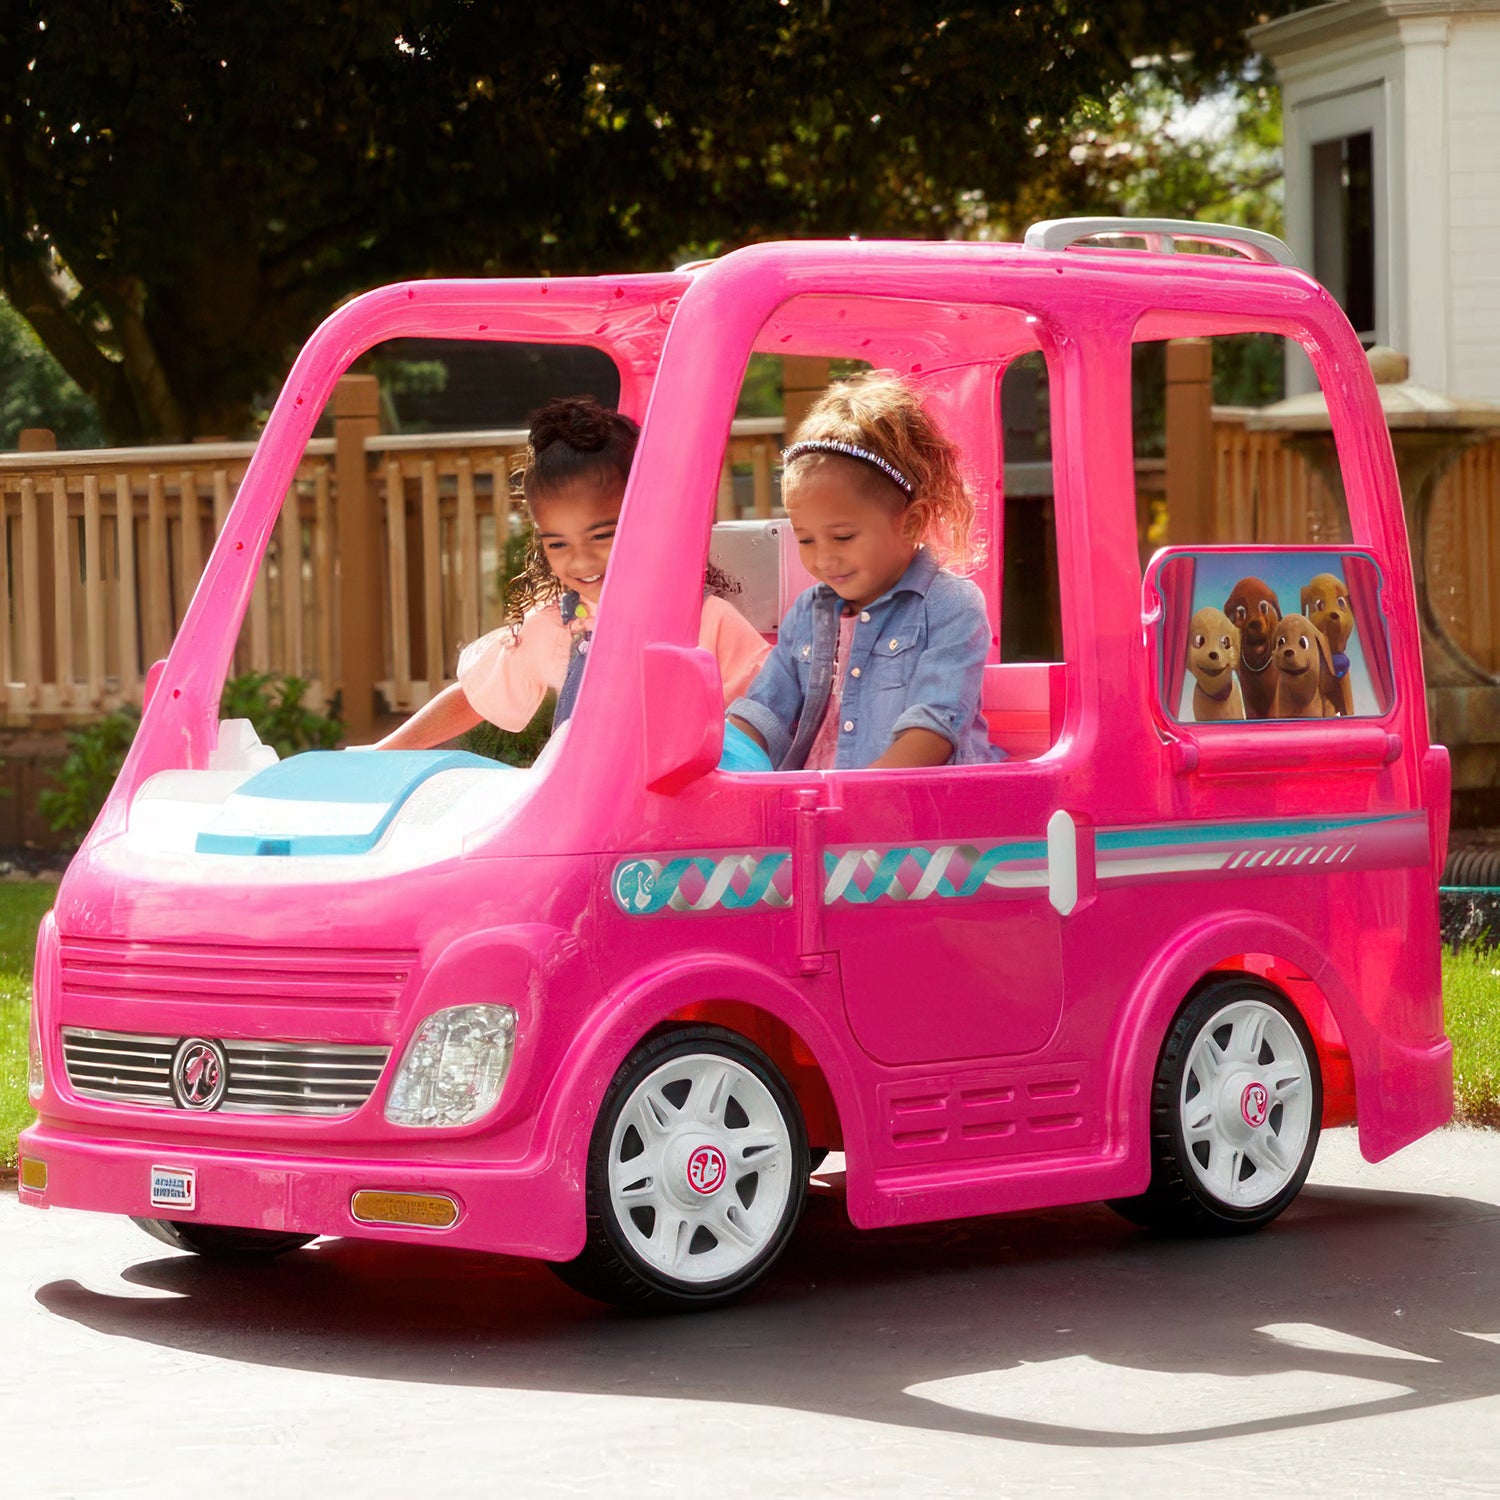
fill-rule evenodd
<path id="1" fill-rule="evenodd" d="M 1257 1230 L 1302 1190 L 1322 1118 L 1317 1048 L 1296 1006 L 1251 980 L 1215 981 L 1161 1047 L 1150 1185 L 1110 1208 L 1164 1234 Z"/>

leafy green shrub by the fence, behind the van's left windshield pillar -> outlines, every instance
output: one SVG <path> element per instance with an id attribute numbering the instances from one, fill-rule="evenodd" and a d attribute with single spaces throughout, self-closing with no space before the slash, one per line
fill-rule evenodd
<path id="1" fill-rule="evenodd" d="M 249 718 L 261 742 L 274 746 L 282 758 L 298 750 L 332 750 L 342 734 L 338 704 L 332 714 L 320 714 L 303 704 L 306 692 L 300 676 L 246 672 L 224 684 L 219 717 Z M 134 708 L 120 708 L 68 736 L 68 758 L 52 771 L 52 786 L 36 800 L 54 832 L 81 838 L 88 831 L 120 774 L 140 722 Z"/>

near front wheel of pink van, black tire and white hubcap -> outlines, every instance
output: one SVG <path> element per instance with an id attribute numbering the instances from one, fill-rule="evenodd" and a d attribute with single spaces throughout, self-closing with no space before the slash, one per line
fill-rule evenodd
<path id="1" fill-rule="evenodd" d="M 552 1269 L 615 1306 L 718 1306 L 786 1248 L 810 1172 L 802 1112 L 759 1047 L 718 1026 L 662 1032 L 604 1095 L 588 1152 L 588 1242 Z"/>

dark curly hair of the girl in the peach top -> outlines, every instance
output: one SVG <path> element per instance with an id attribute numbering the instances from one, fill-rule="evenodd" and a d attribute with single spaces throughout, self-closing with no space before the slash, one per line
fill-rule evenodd
<path id="1" fill-rule="evenodd" d="M 580 478 L 624 484 L 639 438 L 640 428 L 634 422 L 602 406 L 592 396 L 560 396 L 532 414 L 524 465 L 512 476 L 526 501 L 532 526 L 520 572 L 506 588 L 507 624 L 519 626 L 532 609 L 562 597 L 562 585 L 537 540 L 536 502 Z M 712 562 L 708 588 L 726 597 L 740 592 L 740 585 Z"/>

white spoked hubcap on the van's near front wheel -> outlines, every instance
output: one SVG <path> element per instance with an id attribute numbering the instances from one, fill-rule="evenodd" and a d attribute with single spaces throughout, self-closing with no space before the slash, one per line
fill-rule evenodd
<path id="1" fill-rule="evenodd" d="M 609 1142 L 609 1198 L 630 1248 L 675 1281 L 722 1281 L 774 1239 L 792 1136 L 771 1090 L 732 1058 L 693 1053 L 648 1074 Z"/>

